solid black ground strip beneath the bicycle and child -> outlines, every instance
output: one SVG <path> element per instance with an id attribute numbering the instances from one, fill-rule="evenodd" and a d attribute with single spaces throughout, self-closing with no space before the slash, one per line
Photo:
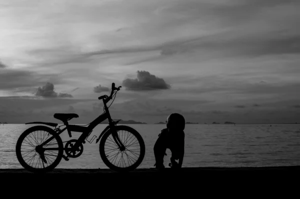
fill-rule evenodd
<path id="1" fill-rule="evenodd" d="M 163 193 L 177 196 L 184 193 L 187 196 L 187 193 L 202 194 L 209 190 L 210 194 L 221 193 L 224 197 L 224 194 L 237 194 L 236 191 L 243 191 L 243 196 L 258 194 L 259 191 L 267 192 L 270 196 L 285 190 L 286 198 L 287 193 L 298 189 L 299 179 L 300 166 L 184 167 L 177 171 L 171 168 L 160 171 L 148 168 L 127 173 L 109 169 L 54 169 L 44 174 L 24 169 L 0 169 L 2 190 L 10 191 L 13 187 L 15 194 L 22 195 L 28 191 L 37 195 L 45 195 L 47 192 L 55 192 L 56 195 L 57 191 L 62 191 L 61 194 L 68 196 L 113 193 L 152 197 Z M 286 191 L 283 186 L 289 190 Z"/>

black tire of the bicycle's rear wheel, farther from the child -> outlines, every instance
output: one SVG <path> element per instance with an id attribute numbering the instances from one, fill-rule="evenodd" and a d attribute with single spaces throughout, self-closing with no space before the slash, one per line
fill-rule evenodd
<path id="1" fill-rule="evenodd" d="M 49 133 L 50 135 L 53 135 L 54 139 L 56 139 L 56 141 L 57 141 L 57 145 L 58 145 L 58 148 L 59 148 L 56 159 L 54 159 L 54 161 L 51 164 L 49 164 L 48 166 L 41 167 L 41 168 L 35 168 L 35 167 L 31 166 L 30 163 L 29 164 L 26 163 L 25 160 L 24 160 L 24 158 L 22 157 L 22 154 L 21 154 L 21 146 L 22 146 L 23 140 L 26 138 L 26 136 L 28 134 L 30 134 L 30 133 L 32 133 L 34 131 L 38 131 L 38 130 L 43 130 L 43 131 Z M 37 136 L 38 136 L 38 134 L 37 134 Z M 27 141 L 27 143 L 29 143 L 29 142 Z M 30 143 L 30 145 L 31 145 L 31 143 Z M 31 146 L 33 146 L 33 144 Z M 60 136 L 57 135 L 53 129 L 51 129 L 51 128 L 47 127 L 47 126 L 37 125 L 37 126 L 32 126 L 32 127 L 28 128 L 28 129 L 26 129 L 24 132 L 22 132 L 22 134 L 17 139 L 16 146 L 15 146 L 15 152 L 16 152 L 16 157 L 17 157 L 19 163 L 25 169 L 27 169 L 27 170 L 29 170 L 31 172 L 48 172 L 48 171 L 51 171 L 53 168 L 55 168 L 59 164 L 59 162 L 60 162 L 60 160 L 62 158 L 62 155 L 63 155 L 63 144 L 62 144 L 62 140 L 61 140 Z M 37 152 L 35 152 L 35 153 L 37 153 Z M 33 157 L 33 159 L 34 158 L 35 157 Z M 49 161 L 49 159 L 47 159 L 47 160 Z M 41 163 L 44 166 L 44 163 L 43 162 L 41 162 Z"/>

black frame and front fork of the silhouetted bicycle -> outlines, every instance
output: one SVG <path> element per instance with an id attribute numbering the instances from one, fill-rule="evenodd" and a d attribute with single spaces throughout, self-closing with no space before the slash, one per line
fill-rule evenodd
<path id="1" fill-rule="evenodd" d="M 88 126 L 79 126 L 79 125 L 73 125 L 73 124 L 68 124 L 67 121 L 64 122 L 65 127 L 63 129 L 56 129 L 55 127 L 55 132 L 57 132 L 57 135 L 61 134 L 65 129 L 68 131 L 69 137 L 71 137 L 71 131 L 75 132 L 82 132 L 82 134 L 79 136 L 75 144 L 73 145 L 73 149 L 75 150 L 77 147 L 79 147 L 79 144 L 85 143 L 84 139 L 86 139 L 91 131 L 93 130 L 94 127 L 96 127 L 99 123 L 104 121 L 105 119 L 108 119 L 108 125 L 104 128 L 104 130 L 100 133 L 99 137 L 96 140 L 96 143 L 99 141 L 99 139 L 102 137 L 102 135 L 107 132 L 108 130 L 113 129 L 113 126 L 118 123 L 119 120 L 113 121 L 111 119 L 108 107 L 106 106 L 106 103 L 103 99 L 103 104 L 104 104 L 104 113 L 99 115 L 97 118 L 95 118 L 92 122 L 89 123 Z M 117 136 L 117 133 L 112 133 L 112 137 L 114 141 L 116 142 L 117 146 L 120 149 L 124 148 L 124 145 L 120 141 L 119 137 Z M 40 146 L 42 147 L 43 145 L 49 143 L 52 139 L 54 139 L 54 136 L 50 137 L 46 141 L 44 141 Z M 44 148 L 44 150 L 58 150 L 58 148 Z"/>

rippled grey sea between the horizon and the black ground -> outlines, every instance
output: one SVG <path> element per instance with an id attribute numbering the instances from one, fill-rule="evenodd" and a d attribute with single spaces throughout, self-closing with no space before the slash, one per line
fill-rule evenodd
<path id="1" fill-rule="evenodd" d="M 36 124 L 0 124 L 0 168 L 22 168 L 15 155 L 20 134 Z M 165 124 L 123 124 L 137 130 L 145 142 L 145 156 L 137 168 L 153 168 L 153 146 Z M 89 135 L 98 136 L 107 124 L 99 124 Z M 257 167 L 300 165 L 300 124 L 186 124 L 182 167 Z M 62 141 L 81 133 L 67 131 Z M 171 153 L 164 156 L 168 167 Z M 108 168 L 95 139 L 83 144 L 83 153 L 69 161 L 62 159 L 56 168 Z"/>

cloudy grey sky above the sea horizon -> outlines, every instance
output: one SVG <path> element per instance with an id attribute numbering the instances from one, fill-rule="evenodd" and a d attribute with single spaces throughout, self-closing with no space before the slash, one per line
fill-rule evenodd
<path id="1" fill-rule="evenodd" d="M 300 122 L 299 0 L 0 0 L 0 122 Z M 111 102 L 111 101 L 110 101 Z M 110 104 L 108 102 L 108 105 Z"/>

